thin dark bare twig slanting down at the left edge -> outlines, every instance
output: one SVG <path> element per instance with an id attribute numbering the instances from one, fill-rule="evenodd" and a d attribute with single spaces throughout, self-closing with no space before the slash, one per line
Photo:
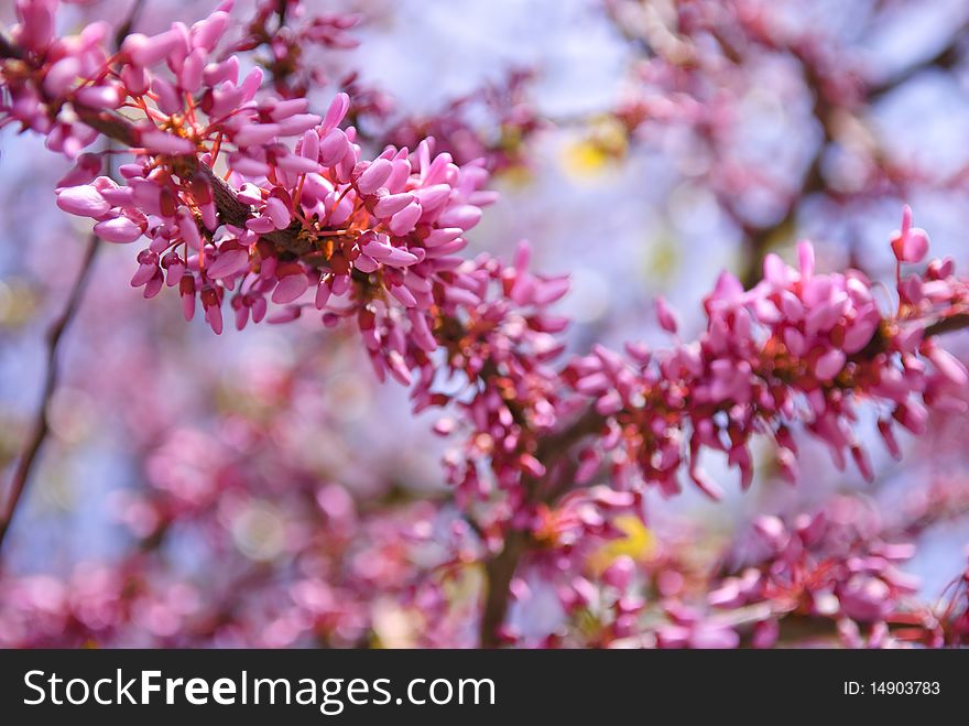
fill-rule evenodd
<path id="1" fill-rule="evenodd" d="M 47 332 L 47 372 L 44 377 L 41 403 L 37 407 L 31 434 L 24 444 L 23 452 L 21 453 L 17 468 L 13 472 L 7 502 L 3 506 L 2 514 L 0 514 L 0 549 L 3 546 L 3 540 L 7 537 L 7 532 L 10 530 L 10 523 L 13 520 L 13 514 L 17 512 L 17 506 L 20 502 L 26 483 L 30 480 L 31 472 L 37 460 L 44 441 L 47 437 L 47 432 L 50 430 L 47 409 L 51 405 L 54 392 L 57 390 L 57 356 L 61 348 L 61 340 L 80 306 L 80 301 L 84 296 L 88 278 L 90 277 L 98 246 L 99 239 L 97 235 L 91 235 L 88 239 L 87 249 L 85 250 L 84 259 L 80 262 L 77 278 L 74 281 L 74 286 L 70 289 L 70 294 L 67 296 L 67 302 L 64 304 L 64 310 L 61 312 L 61 315 L 54 319 L 51 329 Z"/>

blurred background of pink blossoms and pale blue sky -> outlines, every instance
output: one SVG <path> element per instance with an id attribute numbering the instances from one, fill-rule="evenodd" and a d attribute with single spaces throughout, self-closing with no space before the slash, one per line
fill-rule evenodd
<path id="1" fill-rule="evenodd" d="M 12 4 L 0 3 L 7 26 Z M 115 23 L 130 4 L 73 3 L 62 30 Z M 148 0 L 137 30 L 216 4 Z M 236 6 L 250 17 L 253 3 Z M 801 238 L 824 270 L 891 281 L 888 239 L 905 203 L 934 256 L 969 263 L 965 0 L 303 6 L 360 18 L 356 47 L 318 48 L 328 84 L 315 110 L 350 88 L 368 100 L 357 122 L 378 149 L 429 132 L 458 158 L 484 155 L 501 198 L 471 252 L 508 257 L 529 239 L 535 269 L 570 274 L 558 311 L 575 321 L 574 351 L 667 345 L 660 294 L 690 338 L 721 270 L 753 283 L 767 251 L 790 260 Z M 0 133 L 0 491 L 41 400 L 45 331 L 85 250 L 87 227 L 54 204 L 67 167 L 43 140 Z M 66 335 L 51 433 L 4 543 L 0 646 L 465 642 L 475 568 L 444 592 L 415 575 L 473 550 L 446 505 L 434 416 L 415 419 L 405 390 L 374 381 L 350 331 L 313 318 L 216 337 L 186 325 L 174 295 L 142 300 L 133 270 L 132 248 L 102 245 Z M 960 336 L 948 346 L 969 354 Z M 711 460 L 726 505 L 689 487 L 656 497 L 657 537 L 686 522 L 716 548 L 755 512 L 836 492 L 886 521 L 930 503 L 908 567 L 930 602 L 965 567 L 965 421 L 904 441 L 901 464 L 874 422 L 859 426 L 874 484 L 810 442 L 796 488 L 771 476 L 767 449 L 742 496 Z M 420 607 L 401 607 L 401 594 Z M 534 592 L 513 617 L 541 631 L 560 617 L 553 599 Z"/>

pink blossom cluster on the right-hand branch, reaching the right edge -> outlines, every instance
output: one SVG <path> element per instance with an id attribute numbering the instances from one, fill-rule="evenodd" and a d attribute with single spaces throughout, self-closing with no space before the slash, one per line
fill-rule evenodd
<path id="1" fill-rule="evenodd" d="M 927 251 L 907 209 L 895 239 L 900 264 Z M 817 273 L 809 243 L 799 246 L 798 260 L 792 268 L 770 254 L 763 280 L 747 291 L 725 273 L 704 303 L 707 329 L 696 342 L 661 353 L 631 344 L 625 358 L 599 349 L 570 364 L 566 379 L 603 418 L 598 451 L 613 452 L 614 476 L 634 470 L 672 495 L 685 467 L 716 499 L 721 491 L 700 464 L 703 451 L 726 455 L 745 488 L 753 480 L 751 440 L 763 434 L 777 446 L 781 473 L 794 481 L 792 426 L 803 423 L 839 468 L 850 455 L 871 478 L 853 434 L 860 401 L 881 411 L 879 431 L 895 456 L 896 425 L 922 434 L 929 409 L 966 410 L 965 366 L 925 335 L 969 302 L 951 260 L 900 275 L 897 313 L 880 308 L 877 286 L 861 272 Z M 658 313 L 661 325 L 676 333 L 662 300 Z"/>

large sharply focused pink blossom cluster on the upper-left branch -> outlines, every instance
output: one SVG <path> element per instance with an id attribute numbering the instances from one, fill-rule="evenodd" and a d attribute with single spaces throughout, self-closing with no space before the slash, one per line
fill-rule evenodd
<path id="1" fill-rule="evenodd" d="M 36 8 L 46 18 L 53 4 L 23 3 L 14 40 L 40 34 Z M 220 10 L 192 29 L 176 23 L 153 37 L 129 36 L 113 64 L 99 51 L 87 75 L 113 84 L 119 101 L 97 108 L 75 93 L 87 87 L 85 74 L 52 88 L 43 44 L 52 41 L 32 43 L 32 74 L 11 93 L 46 84 L 50 97 L 17 109 L 46 118 L 55 104 L 95 112 L 127 98 L 123 105 L 144 113 L 130 129 L 135 158 L 120 167 L 124 184 L 89 181 L 97 164 L 83 158 L 58 188 L 58 206 L 94 218 L 95 231 L 108 241 L 146 237 L 131 283 L 146 297 L 177 286 L 186 318 L 200 301 L 207 323 L 220 333 L 230 293 L 238 328 L 263 319 L 270 302 L 286 306 L 271 317 L 276 322 L 313 304 L 327 324 L 357 315 L 381 375 L 386 369 L 409 380 L 404 335 L 413 329 L 425 350 L 434 349 L 428 311 L 435 281 L 459 263 L 454 253 L 465 245 L 464 232 L 493 198 L 480 191 L 486 173 L 475 162 L 458 167 L 446 153 L 432 156 L 431 140 L 414 152 L 388 148 L 361 159 L 355 129 L 339 128 L 349 108 L 345 94 L 323 118 L 306 112 L 305 98 L 257 98 L 258 68 L 240 82 L 237 56 L 210 57 L 227 28 Z M 170 74 L 155 72 L 161 64 Z M 294 148 L 281 143 L 287 137 L 297 137 Z M 215 167 L 224 152 L 226 182 L 202 171 Z M 220 195 L 237 218 L 220 214 Z M 287 240 L 282 246 L 281 236 Z M 313 302 L 304 302 L 309 295 Z"/>

